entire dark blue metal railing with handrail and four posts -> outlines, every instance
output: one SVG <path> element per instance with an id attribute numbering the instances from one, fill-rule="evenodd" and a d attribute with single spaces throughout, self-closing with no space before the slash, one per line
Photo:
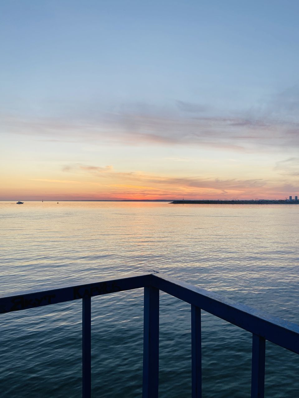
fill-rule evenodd
<path id="1" fill-rule="evenodd" d="M 158 397 L 159 291 L 191 304 L 192 398 L 201 397 L 201 309 L 252 333 L 251 397 L 264 397 L 266 340 L 299 354 L 299 326 L 157 273 L 0 295 L 0 313 L 81 299 L 83 398 L 91 395 L 91 297 L 144 287 L 143 398 Z"/>

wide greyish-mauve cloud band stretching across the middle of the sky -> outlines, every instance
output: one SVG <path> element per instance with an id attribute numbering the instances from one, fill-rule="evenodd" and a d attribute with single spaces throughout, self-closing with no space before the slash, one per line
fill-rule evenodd
<path id="1" fill-rule="evenodd" d="M 294 100 L 289 105 L 292 111 L 297 109 L 296 104 Z M 149 107 L 131 112 L 99 113 L 89 119 L 80 115 L 35 119 L 11 115 L 3 117 L 3 125 L 6 132 L 51 141 L 129 146 L 196 145 L 246 152 L 299 148 L 299 121 L 283 118 L 279 111 L 262 113 L 253 109 L 243 116 L 222 117 L 204 115 L 200 105 L 177 101 L 177 106 L 186 112 L 157 111 L 156 107 L 151 111 Z"/>

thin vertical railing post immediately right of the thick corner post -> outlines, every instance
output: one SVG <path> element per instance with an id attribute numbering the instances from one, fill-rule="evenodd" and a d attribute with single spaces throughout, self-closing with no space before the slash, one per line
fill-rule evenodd
<path id="1" fill-rule="evenodd" d="M 191 305 L 192 398 L 201 398 L 201 309 Z"/>

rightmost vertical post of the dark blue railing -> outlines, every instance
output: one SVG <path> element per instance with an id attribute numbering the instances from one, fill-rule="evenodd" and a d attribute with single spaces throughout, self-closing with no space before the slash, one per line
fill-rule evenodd
<path id="1" fill-rule="evenodd" d="M 251 398 L 264 398 L 266 340 L 252 334 Z"/>

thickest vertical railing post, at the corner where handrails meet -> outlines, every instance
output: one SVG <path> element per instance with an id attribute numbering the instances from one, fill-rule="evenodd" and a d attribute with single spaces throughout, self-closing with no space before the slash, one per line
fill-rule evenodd
<path id="1" fill-rule="evenodd" d="M 142 398 L 157 398 L 159 388 L 159 289 L 144 288 Z"/>

